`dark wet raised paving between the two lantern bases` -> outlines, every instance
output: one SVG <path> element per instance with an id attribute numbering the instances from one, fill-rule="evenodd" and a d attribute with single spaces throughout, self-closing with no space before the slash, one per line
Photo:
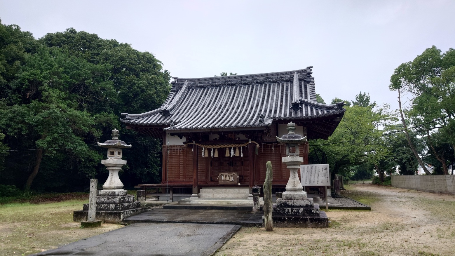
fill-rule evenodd
<path id="1" fill-rule="evenodd" d="M 262 211 L 225 211 L 225 210 L 187 210 L 187 209 L 152 209 L 122 220 L 131 224 L 138 222 L 177 222 L 232 224 L 242 226 L 262 226 Z"/>

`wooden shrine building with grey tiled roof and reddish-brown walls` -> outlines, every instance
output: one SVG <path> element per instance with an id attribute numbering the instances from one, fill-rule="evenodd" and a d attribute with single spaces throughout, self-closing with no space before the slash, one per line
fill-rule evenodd
<path id="1" fill-rule="evenodd" d="M 273 165 L 273 191 L 285 191 L 289 170 L 285 146 L 276 137 L 295 132 L 327 139 L 344 115 L 343 102 L 316 102 L 312 67 L 204 78 L 172 77 L 161 107 L 123 113 L 127 129 L 162 139 L 162 181 L 170 193 L 197 196 L 204 187 L 262 186 L 266 162 Z M 308 164 L 308 142 L 300 145 Z M 172 197 L 172 195 L 171 195 Z M 187 196 L 188 197 L 188 196 Z"/>

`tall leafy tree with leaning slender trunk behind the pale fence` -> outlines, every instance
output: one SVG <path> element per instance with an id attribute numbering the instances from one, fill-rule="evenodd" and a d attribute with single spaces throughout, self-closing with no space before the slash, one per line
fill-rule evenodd
<path id="1" fill-rule="evenodd" d="M 409 110 L 401 111 L 400 104 L 403 124 L 408 118 L 412 125 L 419 126 L 420 136 L 425 137 L 430 151 L 443 166 L 443 173 L 448 174 L 446 157 L 435 148 L 449 144 L 454 149 L 455 145 L 455 50 L 441 53 L 432 46 L 413 61 L 399 65 L 390 81 L 390 90 L 397 90 L 399 97 L 403 93 L 412 96 Z M 412 149 L 409 139 L 408 143 Z M 415 151 L 414 154 L 426 169 L 420 156 Z"/>

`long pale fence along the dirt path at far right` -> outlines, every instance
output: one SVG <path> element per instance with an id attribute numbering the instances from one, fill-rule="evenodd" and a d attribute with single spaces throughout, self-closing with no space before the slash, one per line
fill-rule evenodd
<path id="1" fill-rule="evenodd" d="M 394 175 L 392 186 L 425 192 L 455 194 L 455 175 Z"/>

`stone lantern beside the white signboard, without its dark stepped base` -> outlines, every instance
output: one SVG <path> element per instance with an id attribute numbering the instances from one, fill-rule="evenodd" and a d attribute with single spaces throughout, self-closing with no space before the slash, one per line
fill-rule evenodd
<path id="1" fill-rule="evenodd" d="M 303 200 L 307 198 L 307 193 L 303 191 L 303 186 L 298 178 L 298 170 L 303 162 L 303 157 L 298 156 L 298 145 L 307 141 L 307 136 L 302 137 L 295 134 L 295 124 L 288 123 L 288 134 L 277 137 L 280 144 L 286 145 L 286 157 L 282 157 L 283 163 L 286 164 L 290 173 L 286 191 L 283 192 L 283 200 Z"/>

